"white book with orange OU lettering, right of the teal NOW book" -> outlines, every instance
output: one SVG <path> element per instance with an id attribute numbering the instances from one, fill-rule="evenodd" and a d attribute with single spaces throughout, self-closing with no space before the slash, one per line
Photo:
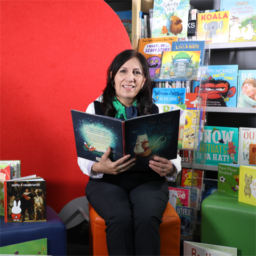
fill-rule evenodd
<path id="1" fill-rule="evenodd" d="M 238 164 L 249 164 L 251 144 L 256 144 L 256 128 L 239 127 Z"/>

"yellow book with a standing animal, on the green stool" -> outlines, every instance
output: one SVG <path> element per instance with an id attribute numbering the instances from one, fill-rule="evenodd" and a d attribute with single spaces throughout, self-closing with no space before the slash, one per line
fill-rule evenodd
<path id="1" fill-rule="evenodd" d="M 241 165 L 238 201 L 256 206 L 256 165 Z"/>

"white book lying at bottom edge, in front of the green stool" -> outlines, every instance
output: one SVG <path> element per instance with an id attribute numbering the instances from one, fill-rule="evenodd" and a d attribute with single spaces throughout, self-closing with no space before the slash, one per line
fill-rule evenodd
<path id="1" fill-rule="evenodd" d="M 214 244 L 203 244 L 185 241 L 184 256 L 211 255 L 211 256 L 237 256 L 237 248 Z"/>

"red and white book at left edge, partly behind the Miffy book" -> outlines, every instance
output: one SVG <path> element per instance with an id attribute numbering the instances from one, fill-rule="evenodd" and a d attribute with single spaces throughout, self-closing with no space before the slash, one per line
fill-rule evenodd
<path id="1" fill-rule="evenodd" d="M 0 216 L 4 216 L 4 182 L 12 179 L 12 166 L 0 164 Z"/>

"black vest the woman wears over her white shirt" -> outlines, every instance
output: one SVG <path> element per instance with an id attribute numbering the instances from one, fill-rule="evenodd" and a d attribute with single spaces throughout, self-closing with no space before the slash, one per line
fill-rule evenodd
<path id="1" fill-rule="evenodd" d="M 101 107 L 101 103 L 99 101 L 94 101 L 93 103 L 95 108 L 95 114 L 103 116 L 104 113 Z M 155 104 L 153 104 L 151 107 L 150 114 L 157 114 L 157 113 L 159 113 L 158 107 Z M 128 171 L 122 172 L 118 175 L 103 174 L 102 179 L 94 179 L 94 180 L 98 182 L 106 181 L 106 182 L 115 184 L 119 187 L 122 187 L 124 189 L 130 190 L 145 182 L 149 182 L 153 180 L 165 181 L 165 178 L 161 177 L 158 173 L 156 173 L 153 170 L 137 171 L 134 169 L 132 171 L 128 170 Z"/>

